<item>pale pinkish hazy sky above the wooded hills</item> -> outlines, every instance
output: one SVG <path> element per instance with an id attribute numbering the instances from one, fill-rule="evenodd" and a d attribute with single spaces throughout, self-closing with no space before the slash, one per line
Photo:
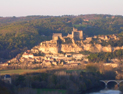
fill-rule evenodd
<path id="1" fill-rule="evenodd" d="M 0 16 L 110 14 L 123 16 L 123 0 L 0 0 Z"/>

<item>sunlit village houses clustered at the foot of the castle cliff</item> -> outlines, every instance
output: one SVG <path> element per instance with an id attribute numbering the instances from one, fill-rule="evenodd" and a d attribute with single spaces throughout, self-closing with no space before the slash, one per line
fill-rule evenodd
<path id="1" fill-rule="evenodd" d="M 35 56 L 35 53 L 32 53 L 31 50 L 27 50 L 20 56 L 9 60 L 6 63 L 0 64 L 2 67 L 14 66 L 18 68 L 44 68 L 51 66 L 75 66 L 83 62 L 88 62 L 88 55 L 82 54 L 45 54 L 45 56 Z M 81 61 L 83 62 L 81 62 Z"/>

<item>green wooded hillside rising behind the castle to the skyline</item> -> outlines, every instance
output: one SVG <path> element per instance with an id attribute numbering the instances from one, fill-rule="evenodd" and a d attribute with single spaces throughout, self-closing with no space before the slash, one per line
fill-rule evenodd
<path id="1" fill-rule="evenodd" d="M 0 17 L 0 58 L 10 59 L 31 49 L 53 33 L 67 35 L 76 27 L 84 36 L 123 32 L 123 17 L 112 15 L 64 15 Z"/>

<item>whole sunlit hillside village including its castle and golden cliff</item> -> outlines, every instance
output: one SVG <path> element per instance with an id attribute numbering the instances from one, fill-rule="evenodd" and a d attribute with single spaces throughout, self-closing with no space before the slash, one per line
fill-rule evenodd
<path id="1" fill-rule="evenodd" d="M 59 38 L 64 42 L 59 44 Z M 70 43 L 66 43 L 66 38 L 71 39 Z M 9 67 L 12 69 L 32 69 L 32 68 L 48 68 L 48 67 L 77 67 L 80 65 L 86 65 L 89 60 L 89 54 L 82 54 L 81 51 L 93 51 L 90 41 L 92 39 L 97 39 L 100 43 L 101 40 L 119 40 L 117 35 L 100 35 L 94 37 L 87 37 L 84 39 L 83 31 L 78 31 L 73 28 L 72 34 L 62 37 L 61 33 L 54 33 L 52 40 L 41 42 L 40 45 L 33 47 L 31 50 L 25 51 L 23 54 L 18 54 L 15 58 L 8 60 L 0 64 L 1 68 Z M 78 43 L 78 44 L 76 44 Z M 113 50 L 122 49 L 123 47 L 111 46 L 102 47 L 100 44 L 95 44 L 97 47 L 97 52 L 112 52 Z M 90 50 L 91 49 L 91 50 Z M 113 50 L 112 50 L 113 49 Z M 117 67 L 118 59 L 111 59 L 111 63 L 104 63 L 105 66 L 109 65 L 112 67 Z"/>

